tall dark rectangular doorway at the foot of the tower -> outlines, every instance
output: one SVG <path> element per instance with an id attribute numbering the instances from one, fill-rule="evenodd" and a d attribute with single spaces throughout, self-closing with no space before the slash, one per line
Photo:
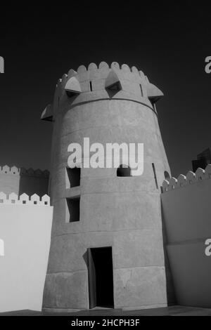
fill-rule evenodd
<path id="1" fill-rule="evenodd" d="M 88 249 L 89 308 L 113 308 L 112 247 Z"/>

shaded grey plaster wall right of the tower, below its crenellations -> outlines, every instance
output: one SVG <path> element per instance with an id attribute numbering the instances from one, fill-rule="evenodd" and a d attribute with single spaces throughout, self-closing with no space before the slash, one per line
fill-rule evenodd
<path id="1" fill-rule="evenodd" d="M 167 252 L 179 305 L 211 308 L 211 180 L 184 185 L 161 195 Z"/>

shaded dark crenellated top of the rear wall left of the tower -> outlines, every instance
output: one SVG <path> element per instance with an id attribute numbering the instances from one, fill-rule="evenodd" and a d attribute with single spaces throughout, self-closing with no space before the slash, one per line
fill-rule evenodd
<path id="1" fill-rule="evenodd" d="M 16 166 L 9 167 L 8 165 L 0 166 L 0 174 L 11 174 L 13 176 L 32 176 L 35 178 L 49 178 L 49 171 L 41 171 L 40 169 L 25 169 Z"/>

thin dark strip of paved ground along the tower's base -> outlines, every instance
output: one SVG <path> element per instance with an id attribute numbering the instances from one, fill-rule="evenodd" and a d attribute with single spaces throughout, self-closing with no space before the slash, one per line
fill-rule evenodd
<path id="1" fill-rule="evenodd" d="M 74 313 L 44 313 L 33 310 L 0 313 L 0 316 L 211 316 L 211 308 L 194 308 L 184 306 L 170 306 L 167 308 L 153 308 L 151 310 L 81 310 Z"/>

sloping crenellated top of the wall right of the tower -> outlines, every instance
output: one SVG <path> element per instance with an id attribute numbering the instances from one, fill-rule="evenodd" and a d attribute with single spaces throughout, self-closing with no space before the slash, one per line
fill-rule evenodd
<path id="1" fill-rule="evenodd" d="M 185 187 L 187 185 L 192 185 L 194 183 L 198 183 L 200 180 L 206 180 L 211 178 L 211 164 L 208 164 L 204 169 L 198 168 L 196 173 L 192 171 L 188 171 L 186 176 L 180 174 L 178 178 L 170 178 L 168 180 L 164 180 L 162 183 L 162 192 L 168 192 L 170 190 L 174 190 L 180 187 Z"/>

